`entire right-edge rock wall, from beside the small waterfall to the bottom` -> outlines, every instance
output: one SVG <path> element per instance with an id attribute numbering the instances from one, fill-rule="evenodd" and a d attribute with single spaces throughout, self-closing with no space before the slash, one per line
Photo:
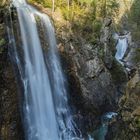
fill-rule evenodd
<path id="1" fill-rule="evenodd" d="M 120 98 L 118 117 L 110 124 L 107 140 L 140 139 L 140 61 L 139 43 L 128 36 L 128 50 L 124 57 L 124 66 L 128 71 L 125 94 Z"/>

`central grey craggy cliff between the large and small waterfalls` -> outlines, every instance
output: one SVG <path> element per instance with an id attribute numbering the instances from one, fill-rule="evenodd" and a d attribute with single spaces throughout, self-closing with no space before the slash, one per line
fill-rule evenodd
<path id="1" fill-rule="evenodd" d="M 64 30 L 58 31 L 57 37 L 71 102 L 82 116 L 84 128 L 91 130 L 102 114 L 116 110 L 127 81 L 123 67 L 114 59 L 111 20 L 104 21 L 95 45 Z"/>

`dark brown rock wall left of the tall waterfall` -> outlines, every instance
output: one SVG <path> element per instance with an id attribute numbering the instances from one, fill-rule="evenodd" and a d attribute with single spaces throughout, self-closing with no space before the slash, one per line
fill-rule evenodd
<path id="1" fill-rule="evenodd" d="M 1 9 L 2 10 L 2 9 Z M 3 10 L 0 14 L 3 15 Z M 0 16 L 0 139 L 22 140 L 19 95 L 8 55 L 8 39 L 3 16 Z"/>

